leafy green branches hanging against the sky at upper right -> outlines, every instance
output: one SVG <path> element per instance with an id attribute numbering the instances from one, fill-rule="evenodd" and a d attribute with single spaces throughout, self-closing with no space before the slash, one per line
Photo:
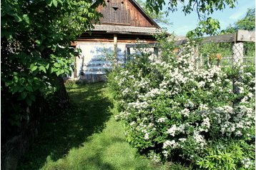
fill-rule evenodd
<path id="1" fill-rule="evenodd" d="M 192 11 L 196 11 L 198 19 L 200 19 L 197 28 L 189 31 L 187 36 L 202 36 L 204 34 L 217 34 L 217 30 L 220 29 L 220 22 L 217 19 L 212 19 L 210 14 L 214 11 L 221 11 L 227 6 L 234 8 L 237 0 L 169 0 L 169 11 L 177 11 L 178 2 L 182 4 L 184 14 L 190 14 Z M 146 7 L 150 11 L 156 11 L 158 13 L 162 10 L 163 5 L 165 5 L 164 0 L 147 0 Z"/>

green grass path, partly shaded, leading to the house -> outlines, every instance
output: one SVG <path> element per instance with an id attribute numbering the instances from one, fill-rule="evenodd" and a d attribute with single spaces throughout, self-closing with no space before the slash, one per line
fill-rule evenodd
<path id="1" fill-rule="evenodd" d="M 73 84 L 69 96 L 73 109 L 42 126 L 18 169 L 184 169 L 155 164 L 129 146 L 104 84 Z"/>

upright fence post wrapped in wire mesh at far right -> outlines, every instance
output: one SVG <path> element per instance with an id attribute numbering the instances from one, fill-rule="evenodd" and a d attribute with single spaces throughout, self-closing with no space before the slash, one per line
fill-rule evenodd
<path id="1" fill-rule="evenodd" d="M 234 94 L 240 94 L 240 89 L 237 86 L 237 84 L 240 84 L 242 81 L 242 73 L 243 73 L 243 54 L 244 54 L 244 44 L 242 42 L 235 42 L 235 44 L 232 46 L 232 65 L 233 69 L 238 69 L 236 72 L 237 74 L 233 77 L 232 83 L 233 83 L 233 92 Z M 237 99 L 234 101 L 234 106 L 239 104 L 240 99 Z"/>

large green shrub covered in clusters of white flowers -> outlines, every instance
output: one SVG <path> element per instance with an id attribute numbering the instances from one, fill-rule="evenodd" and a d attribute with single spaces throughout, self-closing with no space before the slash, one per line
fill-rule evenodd
<path id="1" fill-rule="evenodd" d="M 255 123 L 251 86 L 240 81 L 240 94 L 234 94 L 229 74 L 217 66 L 197 68 L 189 50 L 163 55 L 157 62 L 147 54 L 134 56 L 108 77 L 119 102 L 116 118 L 124 120 L 134 147 L 157 160 L 195 161 L 218 140 L 250 139 Z M 245 77 L 255 79 L 249 73 Z M 247 159 L 243 162 L 248 166 Z"/>

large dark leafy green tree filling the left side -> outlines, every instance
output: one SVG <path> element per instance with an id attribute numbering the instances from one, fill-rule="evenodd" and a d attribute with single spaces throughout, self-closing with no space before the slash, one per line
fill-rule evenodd
<path id="1" fill-rule="evenodd" d="M 99 21 L 99 4 L 101 0 L 1 1 L 1 122 L 19 124 L 28 106 L 59 88 L 58 80 L 71 73 L 79 54 L 70 43 Z"/>

